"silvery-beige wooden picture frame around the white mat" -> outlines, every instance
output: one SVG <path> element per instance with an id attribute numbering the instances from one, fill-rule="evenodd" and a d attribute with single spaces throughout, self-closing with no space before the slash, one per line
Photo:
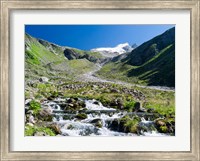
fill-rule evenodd
<path id="1" fill-rule="evenodd" d="M 190 151 L 17 152 L 10 150 L 10 13 L 12 10 L 189 10 L 191 16 Z M 200 160 L 200 1 L 7 1 L 1 0 L 1 160 Z"/>

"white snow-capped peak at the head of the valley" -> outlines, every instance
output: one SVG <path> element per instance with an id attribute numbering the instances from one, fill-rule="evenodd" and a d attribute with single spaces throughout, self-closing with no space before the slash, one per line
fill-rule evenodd
<path id="1" fill-rule="evenodd" d="M 116 47 L 101 47 L 91 49 L 91 51 L 100 52 L 103 56 L 114 57 L 120 54 L 131 52 L 134 48 L 129 45 L 129 43 L 119 44 Z"/>

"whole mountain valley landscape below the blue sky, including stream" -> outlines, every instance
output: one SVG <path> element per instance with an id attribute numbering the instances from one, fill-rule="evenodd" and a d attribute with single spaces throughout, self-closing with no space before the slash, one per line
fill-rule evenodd
<path id="1" fill-rule="evenodd" d="M 26 34 L 25 136 L 174 136 L 173 33 L 90 51 Z"/>

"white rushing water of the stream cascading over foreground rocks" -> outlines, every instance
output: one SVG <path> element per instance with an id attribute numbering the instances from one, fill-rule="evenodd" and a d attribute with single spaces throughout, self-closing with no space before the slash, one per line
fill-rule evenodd
<path id="1" fill-rule="evenodd" d="M 96 100 L 84 100 L 86 104 L 87 118 L 79 120 L 75 118 L 74 113 L 65 113 L 57 102 L 64 102 L 65 99 L 57 98 L 54 101 L 45 101 L 43 106 L 48 106 L 52 109 L 54 115 L 53 121 L 57 123 L 61 129 L 62 136 L 138 136 L 133 133 L 124 133 L 113 131 L 109 128 L 109 124 L 113 120 L 117 120 L 125 116 L 127 113 L 117 111 L 113 108 L 104 107 L 101 102 Z M 64 117 L 67 116 L 67 119 Z M 100 121 L 102 127 L 94 125 L 94 121 Z M 145 126 L 147 129 L 152 126 L 153 121 L 147 121 L 141 118 L 139 126 Z M 141 131 L 141 136 L 166 136 L 156 131 L 148 130 Z"/>

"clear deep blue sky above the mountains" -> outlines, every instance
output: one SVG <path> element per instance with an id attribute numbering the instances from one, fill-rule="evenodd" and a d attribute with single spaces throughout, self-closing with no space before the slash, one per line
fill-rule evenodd
<path id="1" fill-rule="evenodd" d="M 33 37 L 82 50 L 114 47 L 128 42 L 141 45 L 174 25 L 25 25 Z"/>

